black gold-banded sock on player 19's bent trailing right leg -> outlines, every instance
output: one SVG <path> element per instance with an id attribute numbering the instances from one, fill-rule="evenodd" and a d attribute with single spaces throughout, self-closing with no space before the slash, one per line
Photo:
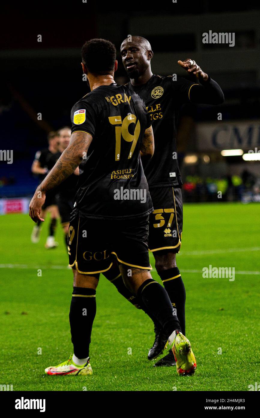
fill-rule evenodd
<path id="1" fill-rule="evenodd" d="M 182 331 L 167 291 L 158 282 L 153 279 L 145 280 L 137 293 L 145 306 L 159 321 L 167 336 L 170 336 L 175 330 Z"/>

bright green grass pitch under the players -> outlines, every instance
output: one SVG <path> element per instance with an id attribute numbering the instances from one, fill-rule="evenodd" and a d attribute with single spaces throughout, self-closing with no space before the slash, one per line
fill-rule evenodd
<path id="1" fill-rule="evenodd" d="M 186 334 L 197 358 L 190 377 L 178 376 L 175 367 L 153 367 L 147 360 L 154 340 L 151 320 L 102 275 L 91 342 L 93 375 L 44 375 L 45 367 L 72 352 L 72 273 L 61 226 L 59 247 L 45 250 L 46 221 L 35 245 L 29 216 L 0 217 L 0 384 L 13 390 L 247 391 L 259 382 L 259 209 L 258 204 L 184 205 L 177 263 L 187 292 Z M 152 255 L 151 264 L 154 268 Z M 210 264 L 235 267 L 235 280 L 202 278 L 202 268 Z M 159 280 L 155 269 L 151 273 Z"/>

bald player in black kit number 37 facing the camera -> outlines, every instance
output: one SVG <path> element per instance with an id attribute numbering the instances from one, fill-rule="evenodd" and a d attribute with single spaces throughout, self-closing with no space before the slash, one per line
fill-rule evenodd
<path id="1" fill-rule="evenodd" d="M 154 130 L 154 155 L 142 159 L 154 212 L 149 216 L 149 250 L 155 258 L 155 268 L 177 311 L 182 332 L 185 334 L 185 287 L 176 264 L 182 239 L 182 180 L 179 171 L 176 130 L 179 110 L 187 102 L 221 104 L 224 95 L 220 86 L 210 79 L 190 59 L 178 61 L 182 68 L 194 74 L 194 82 L 181 77 L 162 77 L 152 73 L 153 52 L 150 43 L 140 37 L 126 38 L 120 48 L 124 68 L 130 78 L 127 86 L 144 100 Z M 146 306 L 138 297 L 131 295 L 124 286 L 119 269 L 103 273 L 118 291 L 137 308 L 142 308 L 150 317 Z M 167 343 L 158 321 L 154 320 L 155 340 L 148 359 L 155 359 Z M 155 366 L 174 366 L 172 350 Z"/>

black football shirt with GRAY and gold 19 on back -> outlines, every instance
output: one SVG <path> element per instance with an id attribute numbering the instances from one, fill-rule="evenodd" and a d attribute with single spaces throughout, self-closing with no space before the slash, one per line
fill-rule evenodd
<path id="1" fill-rule="evenodd" d="M 71 110 L 73 134 L 93 140 L 80 165 L 76 213 L 80 217 L 131 219 L 153 211 L 140 159 L 144 131 L 151 126 L 143 100 L 111 83 L 80 99 Z M 102 233 L 102 231 L 97 231 Z"/>

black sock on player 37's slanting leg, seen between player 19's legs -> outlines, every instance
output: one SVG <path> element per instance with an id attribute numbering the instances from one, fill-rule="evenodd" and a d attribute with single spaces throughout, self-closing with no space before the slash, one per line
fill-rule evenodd
<path id="1" fill-rule="evenodd" d="M 162 328 L 160 323 L 157 321 L 157 319 L 149 312 L 149 310 L 146 308 L 144 302 L 141 298 L 138 296 L 134 296 L 133 293 L 131 293 L 126 285 L 124 284 L 124 280 L 121 276 L 119 267 L 110 269 L 103 273 L 103 275 L 112 283 L 116 289 L 119 291 L 119 293 L 126 298 L 127 301 L 129 301 L 132 305 L 134 305 L 137 309 L 142 309 L 153 321 L 154 325 L 160 329 Z"/>

